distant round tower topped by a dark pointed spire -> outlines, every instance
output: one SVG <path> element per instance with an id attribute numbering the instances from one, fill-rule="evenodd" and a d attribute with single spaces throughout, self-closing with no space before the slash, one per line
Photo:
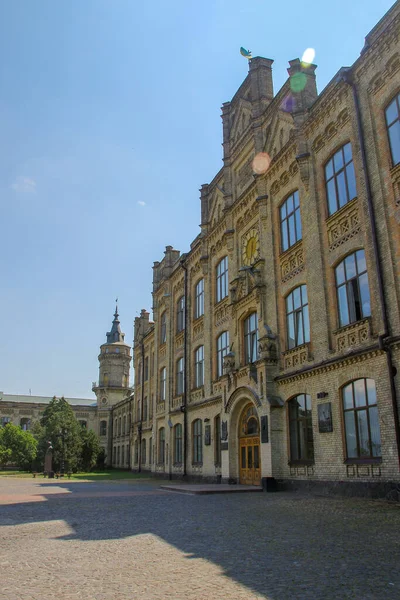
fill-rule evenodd
<path id="1" fill-rule="evenodd" d="M 107 332 L 107 341 L 100 346 L 99 381 L 92 389 L 97 397 L 99 409 L 107 409 L 123 400 L 131 393 L 129 370 L 131 348 L 125 343 L 125 334 L 121 332 L 118 304 L 115 307 L 111 331 Z"/>

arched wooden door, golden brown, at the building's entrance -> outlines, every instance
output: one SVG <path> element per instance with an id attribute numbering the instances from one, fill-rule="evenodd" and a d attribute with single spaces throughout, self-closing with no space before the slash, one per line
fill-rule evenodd
<path id="1" fill-rule="evenodd" d="M 260 422 L 254 404 L 246 404 L 239 421 L 239 483 L 261 484 Z"/>

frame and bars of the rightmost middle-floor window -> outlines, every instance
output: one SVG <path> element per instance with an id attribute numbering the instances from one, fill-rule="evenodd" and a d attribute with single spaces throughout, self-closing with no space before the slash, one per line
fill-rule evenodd
<path id="1" fill-rule="evenodd" d="M 359 253 L 363 254 L 363 258 L 361 258 Z M 346 261 L 350 257 L 355 257 L 355 276 L 348 277 L 348 266 Z M 359 261 L 363 261 L 365 263 L 365 269 L 359 270 Z M 342 267 L 343 265 L 343 267 Z M 339 279 L 339 269 L 343 268 L 344 278 L 341 281 Z M 349 252 L 344 257 L 341 257 L 339 261 L 334 266 L 335 270 L 335 287 L 336 287 L 336 302 L 337 302 L 337 315 L 338 315 L 338 323 L 339 328 L 347 327 L 347 325 L 351 325 L 353 323 L 357 323 L 371 316 L 371 293 L 369 286 L 369 277 L 368 277 L 368 267 L 367 267 L 367 259 L 365 256 L 364 248 L 359 248 L 358 250 L 353 250 Z M 364 277 L 365 276 L 365 277 Z M 360 287 L 360 279 L 366 279 L 366 289 L 368 292 L 368 298 L 365 297 L 364 301 L 369 305 L 369 310 L 365 311 L 363 308 L 363 294 Z M 339 283 L 339 281 L 341 281 Z M 356 287 L 355 287 L 356 286 Z M 343 296 L 343 292 L 340 291 L 344 289 L 345 297 Z M 356 297 L 357 296 L 357 297 Z M 346 303 L 346 304 L 345 304 Z M 358 307 L 358 311 L 357 311 Z M 342 320 L 342 313 L 344 308 L 347 310 L 348 314 L 348 322 Z"/>

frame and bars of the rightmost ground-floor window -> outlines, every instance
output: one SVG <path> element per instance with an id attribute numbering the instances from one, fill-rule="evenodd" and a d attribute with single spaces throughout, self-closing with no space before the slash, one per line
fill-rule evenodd
<path id="1" fill-rule="evenodd" d="M 359 404 L 360 399 L 356 400 L 357 393 L 355 392 L 355 386 L 358 382 L 363 382 L 363 389 L 365 394 L 365 404 Z M 368 390 L 367 382 L 372 382 L 373 384 L 373 392 L 372 389 Z M 346 408 L 346 390 L 351 388 L 351 399 L 352 406 Z M 360 391 L 360 390 L 359 390 Z M 358 394 L 359 395 L 359 394 Z M 369 401 L 369 398 L 372 395 L 372 399 L 375 401 Z M 343 425 L 343 446 L 345 453 L 345 464 L 362 464 L 362 463 L 381 463 L 382 462 L 382 442 L 381 442 L 381 431 L 380 431 L 380 422 L 379 422 L 379 410 L 378 410 L 378 401 L 377 401 L 377 390 L 375 380 L 371 377 L 359 377 L 358 379 L 352 379 L 344 384 L 340 389 L 341 396 L 341 407 L 342 407 L 342 425 Z M 350 398 L 348 398 L 349 400 Z M 366 423 L 367 423 L 367 434 L 368 434 L 368 445 L 370 449 L 372 448 L 372 436 L 371 436 L 371 409 L 376 412 L 376 427 L 379 438 L 379 448 L 380 453 L 373 454 L 371 452 L 367 454 L 362 454 L 361 446 L 360 446 L 360 423 L 359 423 L 359 413 L 366 412 Z M 376 410 L 374 410 L 376 409 Z M 353 413 L 354 415 L 354 433 L 356 436 L 356 456 L 349 456 L 349 441 L 348 441 L 348 418 L 346 415 L 350 415 Z"/>

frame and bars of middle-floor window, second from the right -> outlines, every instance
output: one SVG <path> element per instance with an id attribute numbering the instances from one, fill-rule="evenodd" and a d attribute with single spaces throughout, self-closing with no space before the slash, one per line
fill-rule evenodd
<path id="1" fill-rule="evenodd" d="M 297 290 L 300 291 L 300 306 L 295 307 L 295 294 Z M 306 296 L 306 301 L 303 302 L 303 296 Z M 286 296 L 285 296 L 285 319 L 286 319 L 286 345 L 288 350 L 292 350 L 293 348 L 298 348 L 303 344 L 308 344 L 311 339 L 311 327 L 310 327 L 310 313 L 309 313 L 309 303 L 308 303 L 308 290 L 307 284 L 301 283 L 300 285 L 293 288 Z M 290 319 L 293 315 L 293 344 L 291 343 L 290 337 Z M 301 321 L 300 321 L 301 318 Z M 301 334 L 302 341 L 299 337 L 299 323 L 301 322 Z M 307 327 L 308 324 L 308 327 Z"/>

